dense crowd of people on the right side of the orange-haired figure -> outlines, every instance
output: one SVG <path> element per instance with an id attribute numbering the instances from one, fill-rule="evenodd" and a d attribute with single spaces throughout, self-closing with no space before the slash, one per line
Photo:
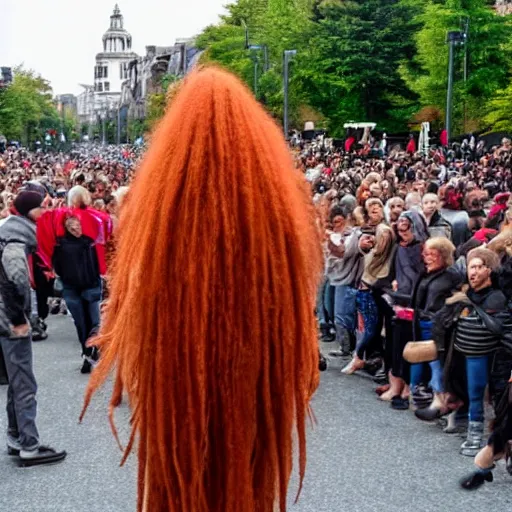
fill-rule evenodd
<path id="1" fill-rule="evenodd" d="M 408 148 L 295 141 L 323 239 L 321 340 L 338 345 L 320 364 L 340 357 L 393 409 L 462 433 L 474 489 L 498 459 L 512 474 L 512 146 Z"/>

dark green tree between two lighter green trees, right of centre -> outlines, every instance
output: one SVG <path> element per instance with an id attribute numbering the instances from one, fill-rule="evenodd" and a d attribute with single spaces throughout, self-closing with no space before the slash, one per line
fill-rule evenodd
<path id="1" fill-rule="evenodd" d="M 412 6 L 399 0 L 327 0 L 313 6 L 316 35 L 302 79 L 311 105 L 330 120 L 333 134 L 341 134 L 347 121 L 404 127 L 415 96 L 398 66 L 415 52 L 412 13 Z M 406 114 L 392 116 L 393 109 Z"/>

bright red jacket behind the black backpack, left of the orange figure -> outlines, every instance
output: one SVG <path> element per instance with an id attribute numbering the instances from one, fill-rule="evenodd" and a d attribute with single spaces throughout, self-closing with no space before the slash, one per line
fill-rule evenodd
<path id="1" fill-rule="evenodd" d="M 105 246 L 112 234 L 110 215 L 92 208 L 58 208 L 45 212 L 37 221 L 37 254 L 44 264 L 44 270 L 53 270 L 53 251 L 57 238 L 64 236 L 64 223 L 68 217 L 77 217 L 82 233 L 96 243 L 100 274 L 107 273 Z"/>

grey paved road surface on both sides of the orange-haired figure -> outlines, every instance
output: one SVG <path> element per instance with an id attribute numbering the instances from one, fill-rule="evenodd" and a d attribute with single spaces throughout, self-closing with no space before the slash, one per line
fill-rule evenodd
<path id="1" fill-rule="evenodd" d="M 133 457 L 118 468 L 120 453 L 106 418 L 108 390 L 78 425 L 87 378 L 69 318 L 54 317 L 50 339 L 35 344 L 39 428 L 44 442 L 68 450 L 60 465 L 19 469 L 0 456 L 1 512 L 129 512 L 135 510 Z M 5 388 L 0 388 L 0 412 Z M 512 480 L 503 467 L 476 493 L 457 479 L 472 468 L 458 455 L 460 439 L 410 412 L 378 402 L 370 381 L 342 376 L 331 362 L 314 402 L 318 425 L 309 435 L 305 487 L 297 512 L 505 512 L 512 510 Z M 117 414 L 126 439 L 128 410 Z M 0 414 L 0 431 L 5 417 Z M 292 494 L 296 481 L 292 482 Z"/>

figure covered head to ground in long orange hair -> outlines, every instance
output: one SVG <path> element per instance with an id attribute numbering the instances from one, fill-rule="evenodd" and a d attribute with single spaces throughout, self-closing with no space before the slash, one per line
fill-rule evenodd
<path id="1" fill-rule="evenodd" d="M 314 217 L 248 90 L 215 68 L 192 74 L 121 214 L 86 395 L 116 368 L 133 409 L 125 455 L 139 439 L 138 511 L 286 509 L 319 375 Z"/>

